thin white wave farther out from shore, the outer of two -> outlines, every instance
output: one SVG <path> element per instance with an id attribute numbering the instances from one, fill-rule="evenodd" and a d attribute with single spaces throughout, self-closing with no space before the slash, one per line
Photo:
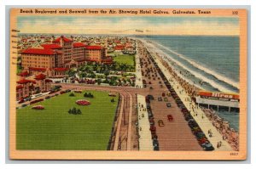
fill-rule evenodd
<path id="1" fill-rule="evenodd" d="M 219 81 L 223 81 L 228 83 L 230 86 L 236 87 L 237 89 L 239 89 L 239 82 L 235 82 L 233 80 L 231 80 L 230 78 L 227 78 L 225 76 L 219 75 L 216 71 L 214 70 L 210 70 L 208 68 L 206 68 L 205 66 L 199 65 L 197 63 L 195 63 L 195 61 L 188 59 L 187 57 L 185 57 L 183 54 L 178 54 L 177 52 L 173 51 L 170 48 L 166 48 L 165 46 L 161 45 L 158 42 L 154 42 L 154 44 L 160 46 L 161 48 L 165 48 L 166 50 L 168 50 L 169 52 L 171 52 L 172 54 L 176 54 L 177 56 L 179 56 L 181 59 L 186 60 L 187 62 L 189 62 L 190 65 L 193 65 L 195 68 L 200 69 L 204 72 L 206 72 L 209 75 L 214 76 L 216 79 L 218 79 Z"/>

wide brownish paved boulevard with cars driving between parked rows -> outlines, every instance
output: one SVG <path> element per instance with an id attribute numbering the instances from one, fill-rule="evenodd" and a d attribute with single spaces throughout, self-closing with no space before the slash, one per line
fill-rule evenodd
<path id="1" fill-rule="evenodd" d="M 182 112 L 178 109 L 172 97 L 162 97 L 162 93 L 168 93 L 168 89 L 157 70 L 154 69 L 154 64 L 149 60 L 148 55 L 143 53 L 143 71 L 149 68 L 148 74 L 144 74 L 143 80 L 147 82 L 147 86 L 144 89 L 144 94 L 151 94 L 154 96 L 154 100 L 150 102 L 152 112 L 154 114 L 154 122 L 156 127 L 156 134 L 160 145 L 160 150 L 202 150 L 201 146 L 197 143 L 195 136 L 192 134 L 188 122 L 184 120 Z M 155 76 L 156 75 L 156 76 Z M 150 76 L 150 79 L 149 79 Z M 153 77 L 154 76 L 154 77 Z M 155 78 L 155 80 L 153 80 Z M 148 84 L 148 83 L 151 84 Z M 161 87 L 162 85 L 162 87 Z M 150 89 L 153 87 L 153 89 Z M 158 98 L 163 101 L 158 101 Z M 164 98 L 168 99 L 168 103 L 172 104 L 171 108 L 166 107 Z M 174 121 L 170 122 L 167 119 L 167 115 L 172 115 Z M 165 124 L 164 127 L 158 125 L 158 121 L 162 120 Z"/>

